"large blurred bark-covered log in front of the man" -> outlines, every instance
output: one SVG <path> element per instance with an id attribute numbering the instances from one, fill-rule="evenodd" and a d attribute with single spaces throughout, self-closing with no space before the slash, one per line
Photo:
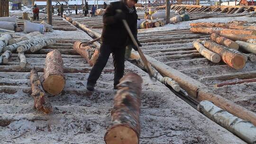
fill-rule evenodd
<path id="1" fill-rule="evenodd" d="M 142 78 L 133 72 L 128 72 L 120 80 L 111 111 L 111 124 L 104 137 L 106 144 L 139 144 L 142 82 Z"/>

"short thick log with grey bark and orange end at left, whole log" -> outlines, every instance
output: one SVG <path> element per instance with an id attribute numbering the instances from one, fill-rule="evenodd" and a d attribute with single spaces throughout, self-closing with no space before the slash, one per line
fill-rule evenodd
<path id="1" fill-rule="evenodd" d="M 53 50 L 46 56 L 46 64 L 44 68 L 43 88 L 51 95 L 58 95 L 64 89 L 63 61 L 61 53 Z"/>

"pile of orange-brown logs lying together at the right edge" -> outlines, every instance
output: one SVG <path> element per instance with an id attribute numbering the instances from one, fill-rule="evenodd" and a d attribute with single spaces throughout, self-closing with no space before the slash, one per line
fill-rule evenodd
<path id="1" fill-rule="evenodd" d="M 194 47 L 208 60 L 212 61 L 210 57 L 212 53 L 219 54 L 224 63 L 236 70 L 242 69 L 247 59 L 255 62 L 255 25 L 246 21 L 232 21 L 229 23 L 191 23 L 190 26 L 192 26 L 190 28 L 192 32 L 211 34 L 210 40 L 200 41 L 201 43 L 193 42 Z M 202 53 L 202 49 L 207 49 L 207 51 Z"/>

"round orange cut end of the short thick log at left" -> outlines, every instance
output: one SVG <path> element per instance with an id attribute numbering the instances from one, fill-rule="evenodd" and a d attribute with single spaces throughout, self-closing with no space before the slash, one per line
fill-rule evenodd
<path id="1" fill-rule="evenodd" d="M 43 88 L 51 95 L 58 95 L 64 89 L 65 79 L 61 75 L 49 75 L 43 82 Z"/>

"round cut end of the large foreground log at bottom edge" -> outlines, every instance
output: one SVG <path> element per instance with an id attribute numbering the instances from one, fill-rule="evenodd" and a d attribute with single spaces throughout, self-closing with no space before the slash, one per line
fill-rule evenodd
<path id="1" fill-rule="evenodd" d="M 136 132 L 126 126 L 115 126 L 105 135 L 106 144 L 138 144 Z"/>

